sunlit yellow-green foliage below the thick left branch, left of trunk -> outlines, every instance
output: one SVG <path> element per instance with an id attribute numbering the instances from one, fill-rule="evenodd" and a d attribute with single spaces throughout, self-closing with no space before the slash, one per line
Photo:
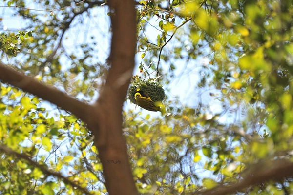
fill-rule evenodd
<path id="1" fill-rule="evenodd" d="M 101 166 L 84 123 L 74 116 L 50 114 L 40 106 L 39 98 L 26 96 L 16 88 L 2 85 L 0 93 L 1 145 L 31 157 L 51 172 L 63 173 L 78 185 L 93 186 L 103 182 L 92 173 L 101 170 Z M 62 178 L 52 178 L 27 160 L 0 153 L 2 194 L 53 195 L 74 191 L 81 194 L 75 186 L 61 185 Z"/>

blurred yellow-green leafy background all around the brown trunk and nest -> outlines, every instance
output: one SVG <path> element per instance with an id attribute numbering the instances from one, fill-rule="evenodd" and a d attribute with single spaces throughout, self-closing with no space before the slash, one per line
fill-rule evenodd
<path id="1" fill-rule="evenodd" d="M 27 7 L 26 1 L 8 2 Z M 99 53 L 105 45 L 91 35 L 80 41 L 76 35 L 83 28 L 74 27 L 89 25 L 94 13 L 106 9 L 103 2 L 35 3 L 48 12 L 8 8 L 26 26 L 19 32 L 1 29 L 2 59 L 91 101 L 108 70 Z M 124 111 L 123 132 L 141 193 L 197 193 L 240 181 L 239 173 L 258 161 L 292 158 L 291 0 L 142 0 L 136 8 L 138 71 L 142 79 L 163 86 L 170 112 L 156 117 Z M 67 39 L 76 42 L 68 47 Z M 186 96 L 189 105 L 172 97 L 176 89 L 168 86 L 194 70 L 199 79 L 190 78 L 197 88 Z M 51 108 L 51 114 L 42 100 L 9 85 L 2 84 L 0 94 L 1 144 L 89 191 L 106 194 L 98 152 L 84 123 L 58 108 Z M 2 194 L 81 194 L 63 178 L 48 176 L 14 155 L 1 151 L 0 164 Z M 256 193 L 292 194 L 292 178 L 238 194 Z"/>

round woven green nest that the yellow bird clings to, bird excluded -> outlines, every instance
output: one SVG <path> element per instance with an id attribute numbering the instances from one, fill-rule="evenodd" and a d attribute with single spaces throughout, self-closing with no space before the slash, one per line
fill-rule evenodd
<path id="1" fill-rule="evenodd" d="M 137 104 L 134 98 L 136 92 L 140 92 L 142 96 L 149 97 L 153 101 L 163 101 L 165 98 L 165 91 L 162 85 L 153 81 L 140 80 L 131 84 L 128 90 L 128 98 L 134 104 Z"/>

